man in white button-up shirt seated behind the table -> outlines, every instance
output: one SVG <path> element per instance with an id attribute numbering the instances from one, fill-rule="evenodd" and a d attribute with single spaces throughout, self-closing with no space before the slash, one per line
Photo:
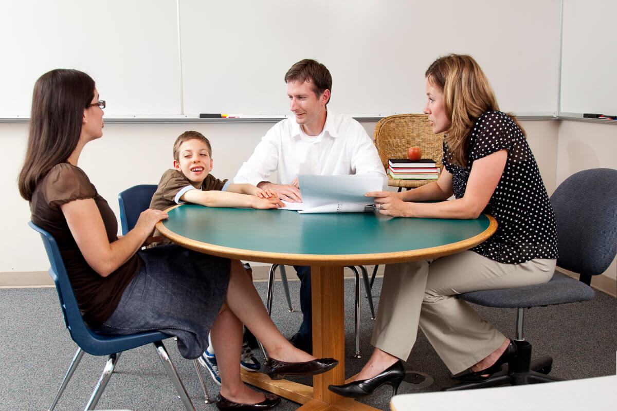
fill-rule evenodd
<path id="1" fill-rule="evenodd" d="M 285 75 L 289 108 L 294 118 L 276 123 L 255 151 L 238 170 L 236 184 L 249 183 L 270 189 L 285 201 L 302 201 L 298 185 L 300 174 L 387 177 L 377 149 L 365 129 L 347 115 L 326 108 L 332 76 L 325 65 L 301 60 Z M 276 184 L 268 181 L 276 171 Z M 294 266 L 300 278 L 300 307 L 304 315 L 292 344 L 312 351 L 310 267 Z"/>

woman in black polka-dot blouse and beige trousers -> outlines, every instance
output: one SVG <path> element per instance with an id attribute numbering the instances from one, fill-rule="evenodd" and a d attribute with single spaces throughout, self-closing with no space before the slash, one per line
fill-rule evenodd
<path id="1" fill-rule="evenodd" d="M 433 132 L 446 135 L 444 169 L 437 181 L 418 189 L 366 197 L 375 197 L 387 216 L 491 214 L 497 231 L 462 253 L 386 266 L 371 341 L 375 351 L 355 381 L 329 387 L 343 396 L 370 395 L 384 384 L 395 393 L 404 378 L 401 360 L 407 360 L 418 327 L 455 378 L 486 380 L 516 356 L 516 346 L 456 296 L 547 282 L 555 269 L 555 216 L 523 129 L 499 111 L 469 55 L 441 57 L 425 76 L 424 113 Z M 446 201 L 452 195 L 455 200 Z"/>

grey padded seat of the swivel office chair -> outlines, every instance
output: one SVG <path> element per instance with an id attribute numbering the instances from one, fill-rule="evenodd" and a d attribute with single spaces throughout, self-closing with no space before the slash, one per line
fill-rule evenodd
<path id="1" fill-rule="evenodd" d="M 471 291 L 459 295 L 458 298 L 486 307 L 519 308 L 589 301 L 594 296 L 594 290 L 589 285 L 579 280 L 553 275 L 553 278 L 544 284 Z"/>

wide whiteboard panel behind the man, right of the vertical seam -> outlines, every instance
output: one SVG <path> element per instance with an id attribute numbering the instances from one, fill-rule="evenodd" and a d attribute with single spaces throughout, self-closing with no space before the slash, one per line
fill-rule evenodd
<path id="1" fill-rule="evenodd" d="M 424 71 L 473 55 L 502 110 L 557 112 L 560 0 L 180 1 L 184 112 L 289 113 L 284 74 L 324 63 L 337 112 L 420 112 Z"/>

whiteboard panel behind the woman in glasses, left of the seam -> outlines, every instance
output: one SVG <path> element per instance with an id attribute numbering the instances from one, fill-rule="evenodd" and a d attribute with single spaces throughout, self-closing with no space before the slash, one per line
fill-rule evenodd
<path id="1" fill-rule="evenodd" d="M 175 0 L 2 1 L 0 116 L 29 117 L 54 68 L 91 75 L 108 118 L 180 114 L 176 15 Z"/>

